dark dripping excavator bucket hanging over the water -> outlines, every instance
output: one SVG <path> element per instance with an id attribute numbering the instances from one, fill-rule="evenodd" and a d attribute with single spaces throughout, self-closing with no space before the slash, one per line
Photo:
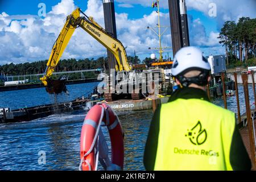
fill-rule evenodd
<path id="1" fill-rule="evenodd" d="M 67 80 L 52 80 L 49 79 L 47 81 L 47 86 L 46 86 L 46 92 L 48 92 L 49 94 L 60 94 L 62 92 L 68 94 L 68 90 L 66 87 L 66 82 Z"/>

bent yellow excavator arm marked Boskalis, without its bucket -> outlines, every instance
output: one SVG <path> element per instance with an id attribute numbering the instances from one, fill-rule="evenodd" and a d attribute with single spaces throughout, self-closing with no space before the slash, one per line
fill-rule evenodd
<path id="1" fill-rule="evenodd" d="M 45 86 L 48 85 L 48 80 L 55 71 L 56 65 L 59 63 L 60 57 L 77 27 L 81 27 L 83 30 L 88 32 L 89 35 L 91 35 L 94 39 L 113 53 L 117 61 L 117 65 L 115 67 L 116 71 L 131 70 L 127 60 L 126 51 L 122 43 L 106 32 L 104 28 L 95 22 L 91 16 L 88 17 L 84 13 L 82 14 L 85 16 L 80 16 L 80 12 L 82 13 L 80 9 L 76 9 L 67 17 L 65 25 L 52 47 L 52 52 L 47 63 L 46 71 L 44 76 L 40 78 Z"/>

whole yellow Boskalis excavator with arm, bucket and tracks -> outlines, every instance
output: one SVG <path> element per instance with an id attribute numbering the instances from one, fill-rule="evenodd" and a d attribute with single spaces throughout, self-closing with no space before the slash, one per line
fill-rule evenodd
<path id="1" fill-rule="evenodd" d="M 80 13 L 83 14 L 84 16 L 80 16 Z M 110 35 L 108 32 L 106 32 L 106 30 L 104 30 L 104 28 L 102 28 L 97 22 L 95 22 L 91 16 L 86 16 L 80 9 L 76 9 L 75 11 L 73 11 L 71 15 L 67 16 L 65 25 L 61 30 L 59 37 L 56 39 L 55 44 L 52 47 L 52 52 L 51 52 L 51 55 L 49 56 L 49 60 L 47 63 L 47 68 L 44 73 L 44 76 L 40 78 L 44 86 L 46 86 L 46 90 L 48 93 L 59 94 L 61 92 L 67 92 L 67 88 L 65 87 L 65 82 L 67 81 L 67 78 L 60 78 L 59 80 L 53 80 L 51 76 L 52 76 L 52 73 L 55 71 L 57 64 L 59 63 L 60 57 L 63 54 L 64 49 L 67 47 L 67 44 L 71 39 L 73 32 L 78 27 L 81 27 L 83 30 L 88 32 L 89 35 L 91 35 L 94 39 L 96 39 L 99 43 L 101 43 L 104 47 L 106 47 L 110 52 L 113 53 L 117 63 L 115 64 L 115 75 L 117 77 L 119 78 L 128 77 L 130 73 L 135 73 L 135 75 L 139 74 L 138 71 L 131 71 L 131 66 L 128 63 L 126 51 L 122 43 L 119 40 L 113 38 L 113 36 Z M 153 72 L 158 73 L 160 76 L 159 78 L 164 78 L 163 70 L 154 69 Z M 143 71 L 143 73 L 144 75 L 145 74 L 147 75 L 147 73 L 152 73 L 152 70 L 146 70 L 146 71 Z M 118 79 L 115 80 L 114 86 L 117 85 L 118 82 L 120 82 L 120 80 Z M 140 86 L 142 85 L 142 82 L 135 83 L 134 81 L 129 81 L 129 82 L 127 81 L 126 86 L 132 86 L 134 88 L 135 84 L 139 85 L 137 89 L 141 90 Z M 113 83 L 112 85 L 110 85 L 110 79 L 109 79 L 108 87 L 109 86 L 113 86 Z M 133 92 L 130 95 L 131 95 L 131 98 L 133 99 L 139 99 L 142 96 L 141 92 L 139 91 Z M 104 94 L 106 101 L 115 100 L 115 98 L 118 98 L 118 96 L 119 98 L 121 98 L 121 97 L 127 96 L 127 93 L 126 94 L 122 94 L 122 93 L 105 93 Z"/>

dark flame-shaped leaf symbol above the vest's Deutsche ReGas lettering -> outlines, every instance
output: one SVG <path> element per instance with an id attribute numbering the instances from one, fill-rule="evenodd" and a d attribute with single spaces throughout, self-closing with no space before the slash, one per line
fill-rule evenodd
<path id="1" fill-rule="evenodd" d="M 196 126 L 194 126 L 191 130 L 188 130 L 185 137 L 188 137 L 191 143 L 201 145 L 207 140 L 207 131 L 205 129 L 202 130 L 201 122 L 198 121 Z"/>

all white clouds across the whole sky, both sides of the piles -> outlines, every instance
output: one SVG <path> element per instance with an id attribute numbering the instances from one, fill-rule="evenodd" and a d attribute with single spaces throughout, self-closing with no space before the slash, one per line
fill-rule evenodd
<path id="1" fill-rule="evenodd" d="M 188 8 L 208 14 L 207 3 L 210 1 L 195 1 L 196 3 L 192 3 L 192 1 L 187 0 Z M 238 3 L 238 0 L 234 1 L 235 3 L 232 1 L 232 5 L 229 5 L 231 0 L 225 2 L 213 0 L 213 2 L 217 3 L 217 18 L 220 22 L 230 18 L 237 19 L 241 15 L 251 15 L 254 12 L 251 11 L 255 7 L 252 0 L 247 0 L 249 2 L 248 5 L 243 5 L 246 4 L 244 2 Z M 115 2 L 151 6 L 148 0 L 116 0 Z M 221 5 L 221 2 L 224 5 Z M 168 1 L 163 1 L 161 6 L 168 8 Z M 233 9 L 234 6 L 237 6 L 236 10 Z M 64 26 L 65 18 L 75 9 L 76 5 L 73 0 L 62 0 L 52 7 L 52 10 L 46 14 L 44 19 L 34 15 L 7 15 L 4 12 L 1 13 L 0 64 L 48 59 L 52 45 Z M 93 16 L 96 22 L 104 27 L 104 13 L 101 0 L 88 0 L 88 9 L 85 11 L 85 14 Z M 128 55 L 133 55 L 134 50 L 136 50 L 138 55 L 146 56 L 156 52 L 149 51 L 148 47 L 158 47 L 158 37 L 154 32 L 147 30 L 147 26 L 155 27 L 158 22 L 155 11 L 139 19 L 129 19 L 125 13 L 116 13 L 115 16 L 118 39 L 127 47 Z M 170 26 L 168 13 L 161 13 L 160 17 L 162 25 Z M 193 46 L 205 49 L 205 53 L 207 53 L 207 50 L 209 53 L 223 52 L 223 47 L 218 44 L 218 32 L 212 31 L 207 35 L 200 19 L 189 19 L 189 32 Z M 171 46 L 170 29 L 164 35 L 162 43 L 163 46 Z M 81 28 L 77 28 L 61 59 L 99 57 L 104 56 L 105 52 L 106 48 Z"/>

